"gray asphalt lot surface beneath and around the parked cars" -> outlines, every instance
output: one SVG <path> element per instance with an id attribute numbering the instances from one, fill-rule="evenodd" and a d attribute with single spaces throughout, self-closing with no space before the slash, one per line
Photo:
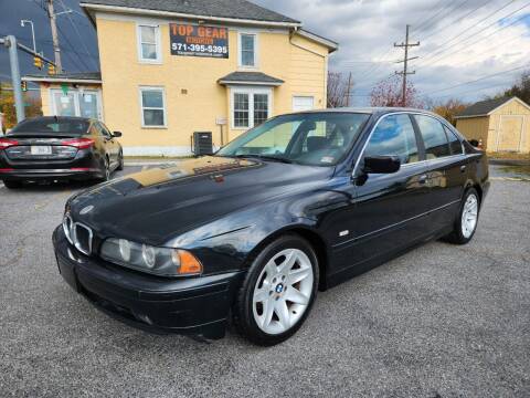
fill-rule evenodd
<path id="1" fill-rule="evenodd" d="M 433 242 L 319 294 L 272 348 L 148 335 L 77 296 L 51 245 L 75 189 L 0 188 L 1 397 L 530 396 L 528 182 L 492 182 L 470 244 Z"/>

